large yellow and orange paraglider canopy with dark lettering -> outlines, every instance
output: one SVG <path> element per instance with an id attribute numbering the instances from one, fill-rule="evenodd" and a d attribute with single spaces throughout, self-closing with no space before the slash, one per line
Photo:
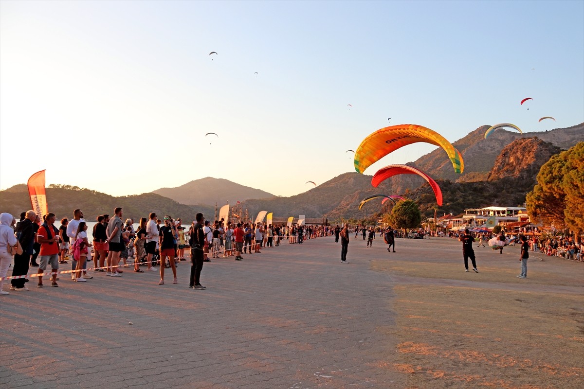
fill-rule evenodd
<path id="1" fill-rule="evenodd" d="M 452 162 L 455 173 L 463 173 L 463 156 L 449 141 L 436 131 L 416 124 L 392 125 L 378 129 L 363 139 L 355 152 L 355 170 L 363 173 L 367 167 L 389 153 L 416 142 L 426 142 L 444 149 Z"/>

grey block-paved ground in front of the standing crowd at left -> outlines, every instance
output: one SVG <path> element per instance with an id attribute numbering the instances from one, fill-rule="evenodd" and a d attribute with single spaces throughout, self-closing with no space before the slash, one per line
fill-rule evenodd
<path id="1" fill-rule="evenodd" d="M 171 269 L 158 286 L 132 267 L 82 284 L 61 275 L 60 288 L 32 278 L 0 298 L 0 387 L 403 387 L 385 366 L 392 282 L 370 270 L 388 253 L 364 246 L 351 241 L 350 264 L 334 237 L 220 258 L 204 264 L 206 290 L 187 287 L 189 262 L 178 285 Z"/>

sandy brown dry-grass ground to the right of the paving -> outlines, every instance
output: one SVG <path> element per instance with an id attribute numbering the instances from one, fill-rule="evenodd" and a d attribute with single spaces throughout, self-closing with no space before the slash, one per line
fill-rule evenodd
<path id="1" fill-rule="evenodd" d="M 540 267 L 534 280 L 515 277 L 519 261 L 484 265 L 479 274 L 427 260 L 373 261 L 372 268 L 409 278 L 394 288 L 396 327 L 379 329 L 399 339 L 387 365 L 406 376 L 408 388 L 584 387 L 581 289 L 538 290 L 542 284 L 581 287 L 580 264 L 572 272 Z M 444 285 L 449 279 L 456 286 Z"/>

